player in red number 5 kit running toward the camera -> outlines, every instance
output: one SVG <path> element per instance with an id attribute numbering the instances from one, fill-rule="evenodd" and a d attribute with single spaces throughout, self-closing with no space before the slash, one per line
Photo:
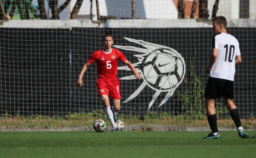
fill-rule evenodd
<path id="1" fill-rule="evenodd" d="M 142 77 L 140 76 L 140 73 L 136 71 L 131 62 L 125 58 L 122 52 L 112 48 L 113 37 L 110 34 L 105 34 L 103 37 L 103 44 L 104 48 L 102 50 L 95 51 L 90 59 L 88 59 L 87 63 L 84 64 L 76 83 L 79 88 L 83 85 L 82 78 L 84 76 L 84 72 L 91 64 L 93 64 L 94 61 L 96 61 L 97 74 L 99 76 L 97 79 L 97 91 L 100 99 L 104 103 L 105 113 L 113 128 L 112 132 L 117 132 L 115 122 L 118 121 L 118 111 L 120 110 L 121 99 L 120 83 L 119 79 L 116 77 L 118 59 L 124 62 L 128 68 L 133 71 L 134 76 L 137 79 L 140 80 Z M 112 110 L 108 99 L 109 96 L 113 101 Z"/>

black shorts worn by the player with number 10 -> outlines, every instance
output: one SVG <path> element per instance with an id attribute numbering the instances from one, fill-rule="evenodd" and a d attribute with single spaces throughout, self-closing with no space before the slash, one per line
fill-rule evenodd
<path id="1" fill-rule="evenodd" d="M 207 99 L 234 99 L 234 82 L 227 79 L 209 77 L 204 97 Z"/>

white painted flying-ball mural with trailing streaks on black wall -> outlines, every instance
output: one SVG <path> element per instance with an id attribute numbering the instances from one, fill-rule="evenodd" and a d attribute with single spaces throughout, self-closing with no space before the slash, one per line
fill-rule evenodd
<path id="1" fill-rule="evenodd" d="M 148 109 L 150 109 L 162 92 L 167 92 L 164 99 L 158 105 L 158 107 L 162 106 L 170 97 L 172 97 L 176 88 L 184 79 L 186 65 L 183 57 L 175 49 L 164 45 L 157 45 L 143 40 L 135 40 L 126 37 L 124 38 L 129 42 L 134 42 L 144 47 L 137 48 L 133 46 L 114 45 L 114 47 L 122 50 L 137 52 L 134 56 L 137 57 L 139 62 L 133 63 L 133 65 L 137 72 L 143 76 L 143 83 L 124 101 L 124 103 L 134 99 L 147 85 L 156 91 L 151 102 L 148 104 Z M 143 68 L 138 68 L 141 65 L 143 65 Z M 130 70 L 128 66 L 119 67 L 118 69 L 126 71 Z M 136 78 L 132 75 L 120 78 L 120 80 L 122 79 L 131 80 Z"/>

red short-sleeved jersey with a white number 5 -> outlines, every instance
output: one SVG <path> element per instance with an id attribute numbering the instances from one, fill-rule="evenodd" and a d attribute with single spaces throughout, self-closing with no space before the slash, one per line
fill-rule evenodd
<path id="1" fill-rule="evenodd" d="M 99 78 L 116 78 L 117 59 L 120 59 L 122 62 L 127 60 L 121 51 L 112 48 L 109 53 L 106 53 L 103 49 L 94 52 L 87 62 L 91 65 L 96 61 Z"/>

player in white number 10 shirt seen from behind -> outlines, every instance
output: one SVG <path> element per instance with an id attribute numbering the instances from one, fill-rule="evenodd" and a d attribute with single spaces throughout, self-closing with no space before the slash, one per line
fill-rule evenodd
<path id="1" fill-rule="evenodd" d="M 209 78 L 204 93 L 205 104 L 207 106 L 207 118 L 212 130 L 204 139 L 220 139 L 218 132 L 217 115 L 215 112 L 215 99 L 224 100 L 230 115 L 236 124 L 239 136 L 249 138 L 241 126 L 239 110 L 233 102 L 234 99 L 234 76 L 236 64 L 241 62 L 241 53 L 239 42 L 230 34 L 227 34 L 227 20 L 219 16 L 212 20 L 213 31 L 212 37 L 212 56 L 205 72 L 209 73 Z"/>

